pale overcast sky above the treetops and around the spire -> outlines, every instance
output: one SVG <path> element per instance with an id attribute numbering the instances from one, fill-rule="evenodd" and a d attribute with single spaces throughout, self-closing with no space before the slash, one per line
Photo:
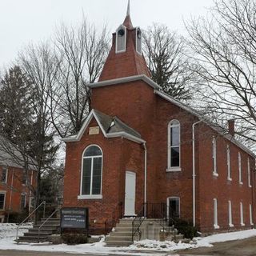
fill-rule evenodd
<path id="1" fill-rule="evenodd" d="M 134 26 L 159 22 L 183 34 L 183 20 L 206 15 L 212 5 L 213 0 L 130 0 L 130 12 Z M 126 6 L 127 0 L 0 0 L 0 67 L 27 43 L 50 38 L 60 22 L 79 23 L 82 12 L 97 27 L 106 24 L 114 32 Z"/>

